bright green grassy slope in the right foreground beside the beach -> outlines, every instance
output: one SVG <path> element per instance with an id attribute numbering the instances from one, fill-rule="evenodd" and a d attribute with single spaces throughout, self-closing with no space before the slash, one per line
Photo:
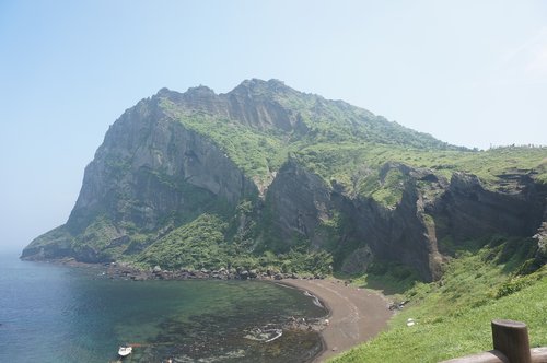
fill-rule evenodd
<path id="1" fill-rule="evenodd" d="M 333 362 L 439 362 L 488 351 L 497 318 L 526 323 L 531 347 L 547 346 L 547 267 L 521 274 L 526 243 L 494 244 L 462 253 L 441 281 L 406 291 L 410 303 L 387 331 Z M 407 327 L 408 318 L 416 325 Z"/>

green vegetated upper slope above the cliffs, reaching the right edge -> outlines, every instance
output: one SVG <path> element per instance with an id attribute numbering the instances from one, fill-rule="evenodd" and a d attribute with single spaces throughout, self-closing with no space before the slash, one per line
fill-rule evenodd
<path id="1" fill-rule="evenodd" d="M 269 92 L 255 91 L 260 97 Z M 217 144 L 259 187 L 271 183 L 289 154 L 328 184 L 336 180 L 342 185 L 348 195 L 372 198 L 391 208 L 400 201 L 408 177 L 391 175 L 396 169 L 383 177 L 381 171 L 386 163 L 429 168 L 446 179 L 455 172 L 475 174 L 490 189 L 500 188 L 500 175 L 514 173 L 533 172 L 538 183 L 547 184 L 547 148 L 470 151 L 345 103 L 294 91 L 276 94 L 275 99 L 300 115 L 305 131 L 259 130 L 237 120 L 181 108 L 167 98 L 161 99 L 161 106 L 186 128 Z"/>

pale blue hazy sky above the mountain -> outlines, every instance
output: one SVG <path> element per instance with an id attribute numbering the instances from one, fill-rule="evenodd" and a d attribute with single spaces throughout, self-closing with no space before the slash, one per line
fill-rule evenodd
<path id="1" fill-rule="evenodd" d="M 0 0 L 0 249 L 65 223 L 140 98 L 249 78 L 458 145 L 547 144 L 547 1 Z"/>

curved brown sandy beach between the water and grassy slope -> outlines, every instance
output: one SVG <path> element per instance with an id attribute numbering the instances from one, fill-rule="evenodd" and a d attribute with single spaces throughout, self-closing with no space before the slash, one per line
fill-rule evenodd
<path id="1" fill-rule="evenodd" d="M 321 332 L 326 347 L 314 362 L 325 362 L 373 338 L 386 328 L 393 314 L 382 294 L 346 286 L 342 281 L 287 279 L 281 283 L 309 291 L 330 311 L 328 326 Z"/>

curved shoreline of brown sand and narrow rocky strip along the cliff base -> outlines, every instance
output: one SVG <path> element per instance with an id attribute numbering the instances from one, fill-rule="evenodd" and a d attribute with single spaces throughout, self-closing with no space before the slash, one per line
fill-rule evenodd
<path id="1" fill-rule="evenodd" d="M 44 262 L 44 261 L 43 261 Z M 217 276 L 217 271 L 143 271 L 123 264 L 85 264 L 73 259 L 47 260 L 70 267 L 97 268 L 109 279 L 125 279 L 133 281 L 143 280 L 246 280 L 240 274 Z M 363 343 L 387 327 L 387 320 L 393 312 L 388 308 L 388 301 L 377 291 L 346 285 L 341 280 L 301 279 L 295 276 L 274 279 L 271 276 L 256 276 L 249 280 L 268 281 L 286 288 L 298 289 L 303 293 L 310 292 L 324 305 L 327 311 L 325 316 L 328 324 L 322 321 L 314 329 L 319 332 L 323 350 L 312 362 L 326 362 L 328 359 L 340 354 Z"/>

